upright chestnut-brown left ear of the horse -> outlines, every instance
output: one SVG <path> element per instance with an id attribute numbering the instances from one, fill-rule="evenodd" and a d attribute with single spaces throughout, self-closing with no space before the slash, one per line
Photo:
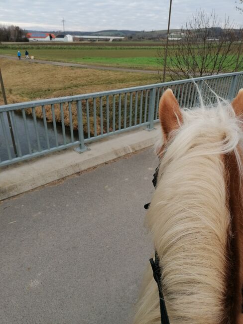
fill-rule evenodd
<path id="1" fill-rule="evenodd" d="M 160 98 L 159 120 L 165 140 L 168 140 L 169 134 L 182 124 L 181 110 L 171 89 L 167 89 Z"/>

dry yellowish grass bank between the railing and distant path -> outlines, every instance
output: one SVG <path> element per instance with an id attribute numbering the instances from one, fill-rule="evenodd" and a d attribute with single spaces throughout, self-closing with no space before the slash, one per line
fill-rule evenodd
<path id="1" fill-rule="evenodd" d="M 0 67 L 9 104 L 159 82 L 156 74 L 62 67 L 2 58 Z"/>

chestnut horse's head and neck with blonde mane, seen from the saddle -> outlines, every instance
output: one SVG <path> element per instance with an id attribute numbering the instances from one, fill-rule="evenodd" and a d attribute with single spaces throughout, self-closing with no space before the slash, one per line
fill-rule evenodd
<path id="1" fill-rule="evenodd" d="M 170 324 L 242 322 L 243 90 L 232 104 L 159 102 L 160 167 L 145 222 L 161 268 Z M 135 323 L 161 323 L 148 269 Z"/>

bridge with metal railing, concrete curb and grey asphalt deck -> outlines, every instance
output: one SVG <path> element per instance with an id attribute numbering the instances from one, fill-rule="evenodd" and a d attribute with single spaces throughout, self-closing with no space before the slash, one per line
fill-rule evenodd
<path id="1" fill-rule="evenodd" d="M 243 72 L 0 107 L 1 323 L 131 322 L 153 251 L 158 100 L 171 87 L 197 105 L 199 88 L 214 103 L 208 86 L 232 99 Z"/>

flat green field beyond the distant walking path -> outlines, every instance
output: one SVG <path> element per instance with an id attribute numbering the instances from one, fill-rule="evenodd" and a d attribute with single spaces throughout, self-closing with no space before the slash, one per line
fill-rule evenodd
<path id="1" fill-rule="evenodd" d="M 172 47 L 169 46 L 168 51 L 170 51 L 171 48 Z M 158 46 L 156 44 L 154 44 L 154 46 L 151 44 L 148 46 L 148 44 L 145 45 L 145 43 L 143 45 L 142 43 L 139 43 L 139 46 L 136 43 L 131 43 L 130 46 L 122 46 L 122 44 L 111 46 L 108 42 L 96 45 L 74 45 L 73 43 L 69 45 L 15 43 L 0 45 L 0 54 L 12 55 L 16 56 L 17 58 L 17 50 L 20 50 L 22 57 L 24 58 L 25 49 L 28 50 L 29 55 L 33 55 L 35 59 L 40 60 L 155 71 L 161 71 L 163 68 L 163 58 L 159 58 L 159 52 L 160 56 L 163 56 L 164 46 Z M 175 58 L 171 55 L 169 56 L 170 58 L 168 58 L 167 62 L 172 68 L 176 69 Z M 227 60 L 230 62 L 231 58 L 232 55 L 229 54 Z M 196 56 L 196 61 L 199 66 L 201 65 L 203 59 L 204 58 L 202 58 L 200 55 Z M 220 55 L 218 55 L 218 59 L 220 62 Z M 188 60 L 190 61 L 191 58 L 189 57 Z M 207 66 L 210 70 L 214 66 L 214 62 L 211 62 L 210 56 L 207 57 L 207 60 Z M 193 62 L 191 64 L 193 65 Z M 234 64 L 235 63 L 230 64 L 225 72 L 234 71 Z M 239 69 L 243 69 L 243 66 L 239 66 Z M 215 70 L 217 71 L 216 67 Z"/>

